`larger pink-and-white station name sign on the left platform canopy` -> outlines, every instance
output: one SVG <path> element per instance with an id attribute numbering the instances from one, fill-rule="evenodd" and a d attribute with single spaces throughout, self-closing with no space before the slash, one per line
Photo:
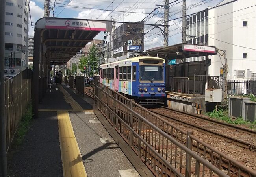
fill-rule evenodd
<path id="1" fill-rule="evenodd" d="M 45 20 L 45 28 L 61 30 L 106 31 L 106 24 L 88 20 L 50 19 Z"/>

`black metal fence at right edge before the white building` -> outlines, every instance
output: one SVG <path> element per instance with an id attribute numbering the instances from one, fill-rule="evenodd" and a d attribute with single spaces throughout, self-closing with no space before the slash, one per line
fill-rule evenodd
<path id="1" fill-rule="evenodd" d="M 256 94 L 256 81 L 228 80 L 228 95 Z"/>

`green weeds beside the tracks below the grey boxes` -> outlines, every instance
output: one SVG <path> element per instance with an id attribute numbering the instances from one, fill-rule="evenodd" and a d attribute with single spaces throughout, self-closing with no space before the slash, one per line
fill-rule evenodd
<path id="1" fill-rule="evenodd" d="M 237 124 L 237 125 L 246 124 L 246 125 L 249 125 L 250 129 L 256 129 L 256 121 L 254 121 L 253 123 L 246 122 L 241 117 L 233 121 L 230 117 L 228 117 L 227 110 L 223 110 L 223 109 L 219 109 L 218 111 L 214 110 L 213 112 L 208 112 L 206 115 L 211 118 L 223 120 L 224 122 L 227 122 L 229 124 Z"/>

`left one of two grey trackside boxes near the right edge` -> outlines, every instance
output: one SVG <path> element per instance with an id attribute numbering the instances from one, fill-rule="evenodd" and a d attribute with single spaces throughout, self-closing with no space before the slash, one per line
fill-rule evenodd
<path id="1" fill-rule="evenodd" d="M 241 96 L 229 96 L 228 116 L 232 118 L 242 117 L 245 119 L 245 101 L 250 101 L 250 98 Z"/>

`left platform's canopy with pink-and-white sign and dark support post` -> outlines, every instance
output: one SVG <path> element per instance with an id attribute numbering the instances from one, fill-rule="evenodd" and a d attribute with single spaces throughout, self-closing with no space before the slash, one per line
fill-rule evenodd
<path id="1" fill-rule="evenodd" d="M 76 18 L 44 17 L 35 23 L 33 60 L 33 113 L 50 83 L 51 65 L 65 65 L 101 31 L 111 31 L 112 22 Z"/>

